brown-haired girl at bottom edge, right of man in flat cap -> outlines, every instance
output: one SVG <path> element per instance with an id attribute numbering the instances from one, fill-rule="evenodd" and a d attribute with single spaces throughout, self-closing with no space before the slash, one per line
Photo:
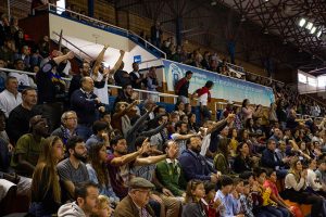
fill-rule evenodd
<path id="1" fill-rule="evenodd" d="M 187 186 L 183 217 L 205 217 L 205 205 L 202 202 L 204 195 L 203 181 L 190 180 Z"/>

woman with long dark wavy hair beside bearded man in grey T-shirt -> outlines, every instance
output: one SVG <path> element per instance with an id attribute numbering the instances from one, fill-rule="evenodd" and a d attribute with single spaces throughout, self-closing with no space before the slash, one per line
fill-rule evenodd
<path id="1" fill-rule="evenodd" d="M 86 164 L 89 179 L 99 184 L 100 194 L 109 196 L 113 204 L 120 202 L 115 195 L 109 178 L 106 161 L 106 145 L 104 142 L 98 142 L 90 146 L 88 154 L 88 164 Z"/>

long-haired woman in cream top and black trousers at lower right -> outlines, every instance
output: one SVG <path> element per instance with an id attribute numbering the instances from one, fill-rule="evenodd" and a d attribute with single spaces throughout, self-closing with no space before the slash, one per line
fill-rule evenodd
<path id="1" fill-rule="evenodd" d="M 285 178 L 284 199 L 290 200 L 299 204 L 311 204 L 311 217 L 318 217 L 323 210 L 323 199 L 305 191 L 306 188 L 306 169 L 302 168 L 299 157 L 294 157 L 291 162 L 291 168 Z M 326 214 L 322 212 L 323 216 Z"/>

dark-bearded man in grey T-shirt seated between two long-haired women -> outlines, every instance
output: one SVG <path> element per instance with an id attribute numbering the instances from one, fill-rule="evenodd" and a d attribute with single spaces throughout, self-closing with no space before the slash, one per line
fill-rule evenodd
<path id="1" fill-rule="evenodd" d="M 89 180 L 86 165 L 83 163 L 87 158 L 87 149 L 83 138 L 72 137 L 67 142 L 70 157 L 60 162 L 57 166 L 60 181 L 64 190 L 63 200 L 74 197 L 75 186 Z M 66 195 L 64 195 L 66 194 Z"/>

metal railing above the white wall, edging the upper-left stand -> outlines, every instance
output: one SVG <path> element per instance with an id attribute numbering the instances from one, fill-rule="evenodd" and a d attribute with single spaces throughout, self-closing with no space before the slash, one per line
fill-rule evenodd
<path id="1" fill-rule="evenodd" d="M 124 35 L 126 37 L 128 37 L 134 42 L 140 43 L 140 44 L 145 46 L 146 49 L 152 50 L 153 52 L 156 52 L 158 54 L 160 54 L 161 58 L 165 58 L 166 59 L 166 53 L 165 52 L 163 52 L 161 49 L 156 48 L 151 42 L 149 42 L 146 39 L 141 38 L 140 36 L 138 36 L 136 33 L 134 33 L 131 30 L 128 30 L 128 29 L 125 29 L 125 28 L 122 28 L 122 27 L 118 27 L 118 26 L 115 26 L 115 25 L 112 25 L 112 24 L 109 24 L 109 23 L 105 23 L 105 22 L 92 18 L 92 17 L 89 17 L 87 15 L 84 15 L 84 14 L 80 14 L 80 13 L 67 10 L 67 9 L 63 9 L 63 8 L 57 7 L 57 5 L 51 4 L 51 3 L 48 4 L 48 10 L 49 10 L 49 12 L 55 13 L 55 14 L 58 14 L 60 16 L 63 16 L 63 17 L 66 17 L 66 18 L 72 18 L 72 20 L 75 20 L 75 21 L 87 22 L 88 24 L 91 24 L 91 25 L 93 25 L 96 27 L 100 27 L 102 29 L 106 29 L 108 30 L 108 28 L 113 28 L 115 30 L 122 31 L 122 33 L 124 33 Z M 74 18 L 74 16 L 71 16 L 71 15 L 70 16 L 65 16 L 65 15 L 59 14 L 58 11 L 67 12 L 70 14 L 74 14 L 74 16 L 76 18 Z"/>

